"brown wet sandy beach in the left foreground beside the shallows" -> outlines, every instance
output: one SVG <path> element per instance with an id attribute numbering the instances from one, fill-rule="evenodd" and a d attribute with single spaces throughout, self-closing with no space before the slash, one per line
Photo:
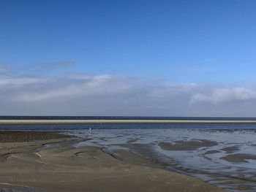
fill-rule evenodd
<path id="1" fill-rule="evenodd" d="M 29 134 L 34 137 L 28 141 Z M 127 150 L 113 155 L 99 147 L 73 147 L 86 139 L 52 132 L 2 131 L 0 136 L 2 191 L 223 191 Z"/>

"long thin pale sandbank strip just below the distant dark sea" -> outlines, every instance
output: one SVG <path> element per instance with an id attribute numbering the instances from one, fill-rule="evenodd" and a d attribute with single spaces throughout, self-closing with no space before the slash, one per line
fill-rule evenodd
<path id="1" fill-rule="evenodd" d="M 256 124 L 256 120 L 0 120 L 0 125 L 39 124 Z"/>

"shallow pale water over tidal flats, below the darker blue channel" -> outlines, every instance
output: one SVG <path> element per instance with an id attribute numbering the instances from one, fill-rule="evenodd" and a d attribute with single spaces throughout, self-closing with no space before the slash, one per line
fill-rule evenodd
<path id="1" fill-rule="evenodd" d="M 91 135 L 88 130 L 72 130 L 70 134 L 91 138 L 76 147 L 92 145 L 113 153 L 116 149 L 131 150 L 166 169 L 198 177 L 228 191 L 256 191 L 256 128 L 154 126 L 156 128 L 93 129 Z M 164 150 L 159 146 L 161 142 L 170 145 L 210 142 L 213 145 Z"/>

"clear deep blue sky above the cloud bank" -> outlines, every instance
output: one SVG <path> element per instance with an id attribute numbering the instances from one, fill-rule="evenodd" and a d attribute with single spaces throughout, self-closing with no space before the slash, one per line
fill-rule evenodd
<path id="1" fill-rule="evenodd" d="M 256 1 L 0 1 L 0 64 L 255 82 Z"/>

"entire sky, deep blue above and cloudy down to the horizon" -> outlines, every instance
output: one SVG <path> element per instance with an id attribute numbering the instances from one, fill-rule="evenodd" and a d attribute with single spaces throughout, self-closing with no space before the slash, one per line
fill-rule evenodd
<path id="1" fill-rule="evenodd" d="M 255 10 L 254 0 L 2 0 L 0 115 L 255 116 Z"/>

